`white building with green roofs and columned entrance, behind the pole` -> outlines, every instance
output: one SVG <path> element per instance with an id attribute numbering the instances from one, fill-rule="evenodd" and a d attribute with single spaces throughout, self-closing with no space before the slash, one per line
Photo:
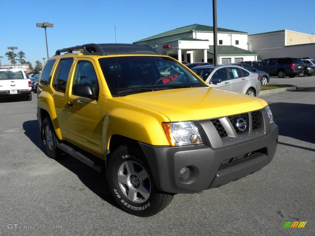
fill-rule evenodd
<path id="1" fill-rule="evenodd" d="M 257 54 L 247 51 L 247 32 L 218 28 L 219 63 L 256 60 Z M 136 44 L 147 44 L 158 52 L 179 61 L 213 61 L 213 27 L 187 25 L 151 37 L 140 39 Z M 212 49 L 213 51 L 213 49 Z"/>

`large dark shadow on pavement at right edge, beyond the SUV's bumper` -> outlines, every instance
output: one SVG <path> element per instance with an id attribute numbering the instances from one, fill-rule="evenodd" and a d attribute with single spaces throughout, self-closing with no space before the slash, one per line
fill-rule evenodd
<path id="1" fill-rule="evenodd" d="M 270 103 L 279 135 L 315 143 L 315 105 L 301 103 Z"/>

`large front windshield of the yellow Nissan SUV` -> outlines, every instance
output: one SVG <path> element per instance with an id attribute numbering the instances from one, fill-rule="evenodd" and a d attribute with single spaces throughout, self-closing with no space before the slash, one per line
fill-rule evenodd
<path id="1" fill-rule="evenodd" d="M 182 87 L 207 87 L 183 65 L 168 57 L 118 56 L 100 58 L 99 62 L 113 97 Z"/>

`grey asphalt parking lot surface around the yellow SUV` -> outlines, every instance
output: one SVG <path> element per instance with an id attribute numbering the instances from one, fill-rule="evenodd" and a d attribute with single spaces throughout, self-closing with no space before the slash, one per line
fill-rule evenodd
<path id="1" fill-rule="evenodd" d="M 260 96 L 279 126 L 272 162 L 220 188 L 178 194 L 148 218 L 119 209 L 106 181 L 80 161 L 47 157 L 36 93 L 30 102 L 0 100 L 0 235 L 314 235 L 315 76 L 274 83 L 298 89 Z M 307 223 L 283 228 L 287 221 Z"/>

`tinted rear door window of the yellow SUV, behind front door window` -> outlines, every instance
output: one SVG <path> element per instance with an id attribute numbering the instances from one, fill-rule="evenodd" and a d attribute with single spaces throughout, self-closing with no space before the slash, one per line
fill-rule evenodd
<path id="1" fill-rule="evenodd" d="M 66 92 L 66 86 L 72 62 L 73 58 L 66 58 L 60 60 L 53 83 L 53 87 L 56 91 L 59 91 L 61 93 Z"/>

